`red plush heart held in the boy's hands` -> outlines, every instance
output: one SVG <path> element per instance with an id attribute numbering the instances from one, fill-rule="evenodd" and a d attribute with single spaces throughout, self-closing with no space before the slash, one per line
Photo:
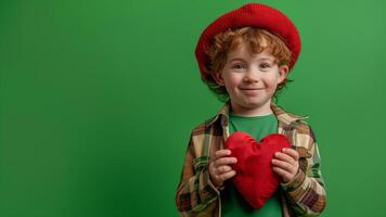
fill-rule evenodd
<path id="1" fill-rule="evenodd" d="M 237 163 L 233 182 L 244 199 L 255 208 L 261 208 L 279 188 L 279 177 L 272 170 L 271 159 L 275 152 L 291 148 L 286 137 L 272 133 L 258 143 L 250 135 L 236 131 L 226 141 Z"/>

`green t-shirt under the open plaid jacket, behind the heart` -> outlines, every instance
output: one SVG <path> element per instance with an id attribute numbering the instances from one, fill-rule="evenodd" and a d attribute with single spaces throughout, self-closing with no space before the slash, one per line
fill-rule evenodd
<path id="1" fill-rule="evenodd" d="M 278 132 L 278 119 L 274 114 L 242 117 L 229 114 L 229 131 L 244 131 L 253 136 L 257 141 L 270 133 Z M 226 181 L 226 189 L 221 191 L 221 213 L 224 217 L 259 216 L 281 217 L 282 207 L 280 191 L 269 199 L 260 209 L 253 208 L 239 193 L 231 180 Z"/>

